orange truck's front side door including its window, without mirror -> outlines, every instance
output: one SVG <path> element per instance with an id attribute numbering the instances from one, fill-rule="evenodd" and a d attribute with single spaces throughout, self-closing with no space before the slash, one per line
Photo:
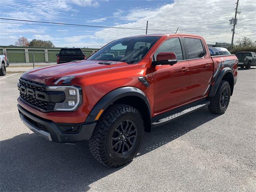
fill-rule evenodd
<path id="1" fill-rule="evenodd" d="M 163 112 L 190 100 L 190 64 L 183 60 L 180 38 L 174 37 L 164 41 L 156 50 L 153 60 L 160 52 L 174 52 L 178 62 L 173 66 L 158 65 L 153 72 L 154 113 Z"/>

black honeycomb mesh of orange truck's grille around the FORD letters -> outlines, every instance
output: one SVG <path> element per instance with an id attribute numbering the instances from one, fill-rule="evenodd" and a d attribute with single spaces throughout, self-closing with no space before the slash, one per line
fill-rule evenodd
<path id="1" fill-rule="evenodd" d="M 46 91 L 46 86 L 44 84 L 30 81 L 30 80 L 25 80 L 23 78 L 20 79 L 19 85 L 18 86 L 24 86 L 25 88 L 32 89 L 34 91 L 40 91 L 44 92 Z M 31 106 L 34 106 L 35 108 L 39 108 L 40 110 L 43 111 L 52 111 L 54 110 L 55 103 L 54 102 L 46 102 L 43 100 L 38 100 L 34 98 L 33 96 L 29 94 L 24 94 L 24 92 L 21 92 L 21 88 L 18 87 L 20 90 L 20 98 L 30 104 Z M 23 90 L 23 88 L 22 88 Z M 26 92 L 25 92 L 26 93 Z"/>

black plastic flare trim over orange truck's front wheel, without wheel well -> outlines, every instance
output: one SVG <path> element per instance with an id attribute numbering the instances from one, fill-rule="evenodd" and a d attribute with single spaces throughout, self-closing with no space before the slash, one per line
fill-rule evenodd
<path id="1" fill-rule="evenodd" d="M 146 94 L 136 87 L 121 87 L 112 90 L 111 92 L 103 96 L 92 108 L 85 122 L 94 122 L 96 116 L 98 115 L 101 109 L 106 110 L 106 108 L 108 108 L 108 106 L 110 106 L 113 102 L 126 96 L 137 96 L 144 100 L 144 102 L 148 106 L 148 112 L 151 118 L 150 102 Z"/>

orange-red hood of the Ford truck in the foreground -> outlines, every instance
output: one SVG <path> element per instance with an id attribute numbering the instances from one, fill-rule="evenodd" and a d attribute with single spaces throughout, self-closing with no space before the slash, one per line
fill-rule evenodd
<path id="1" fill-rule="evenodd" d="M 110 64 L 104 64 L 104 63 Z M 103 63 L 103 64 L 99 64 Z M 61 77 L 84 76 L 128 65 L 126 62 L 83 60 L 28 70 L 22 78 L 50 85 Z"/>

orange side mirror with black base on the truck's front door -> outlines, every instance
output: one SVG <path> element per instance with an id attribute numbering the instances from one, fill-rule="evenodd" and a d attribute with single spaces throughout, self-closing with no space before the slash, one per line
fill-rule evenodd
<path id="1" fill-rule="evenodd" d="M 152 65 L 174 65 L 177 63 L 177 57 L 174 52 L 162 52 L 156 56 L 156 61 L 152 61 Z"/>

